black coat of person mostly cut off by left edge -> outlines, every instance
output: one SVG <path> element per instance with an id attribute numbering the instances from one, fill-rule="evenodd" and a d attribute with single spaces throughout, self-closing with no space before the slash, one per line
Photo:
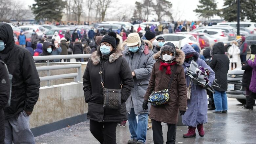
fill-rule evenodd
<path id="1" fill-rule="evenodd" d="M 10 95 L 10 81 L 4 62 L 0 60 L 0 143 L 4 143 L 4 107 Z"/>

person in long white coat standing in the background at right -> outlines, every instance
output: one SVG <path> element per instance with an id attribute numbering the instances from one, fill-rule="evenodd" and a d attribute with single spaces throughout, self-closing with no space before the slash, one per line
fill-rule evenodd
<path id="1" fill-rule="evenodd" d="M 237 62 L 238 62 L 238 54 L 240 54 L 240 49 L 238 47 L 237 41 L 232 41 L 231 47 L 228 49 L 228 54 L 229 54 L 229 61 L 231 62 L 231 70 L 233 70 L 233 66 L 235 65 L 235 69 L 237 67 Z"/>

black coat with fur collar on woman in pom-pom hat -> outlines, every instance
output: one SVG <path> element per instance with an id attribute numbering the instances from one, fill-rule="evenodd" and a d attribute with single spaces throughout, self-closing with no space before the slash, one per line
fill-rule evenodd
<path id="1" fill-rule="evenodd" d="M 120 122 L 127 120 L 125 101 L 131 94 L 134 85 L 131 69 L 121 53 L 115 52 L 104 56 L 102 74 L 104 87 L 120 89 L 122 81 L 122 109 L 103 108 L 103 90 L 100 80 L 100 56 L 95 51 L 87 64 L 83 76 L 84 97 L 88 102 L 87 118 L 98 122 Z"/>

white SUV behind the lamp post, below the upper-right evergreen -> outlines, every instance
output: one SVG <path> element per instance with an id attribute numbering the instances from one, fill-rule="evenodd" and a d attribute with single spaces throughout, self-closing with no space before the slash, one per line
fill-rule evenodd
<path id="1" fill-rule="evenodd" d="M 222 23 L 217 23 L 218 25 L 228 25 L 231 27 L 237 27 L 237 22 L 222 22 Z M 247 28 L 250 31 L 254 31 L 256 33 L 256 23 L 254 22 L 240 22 L 240 27 Z"/>

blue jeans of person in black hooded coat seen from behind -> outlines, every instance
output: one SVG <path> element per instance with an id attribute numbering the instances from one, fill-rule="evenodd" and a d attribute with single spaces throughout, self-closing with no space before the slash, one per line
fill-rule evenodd
<path id="1" fill-rule="evenodd" d="M 213 94 L 215 111 L 225 111 L 227 110 L 227 95 L 226 92 L 215 91 Z"/>

